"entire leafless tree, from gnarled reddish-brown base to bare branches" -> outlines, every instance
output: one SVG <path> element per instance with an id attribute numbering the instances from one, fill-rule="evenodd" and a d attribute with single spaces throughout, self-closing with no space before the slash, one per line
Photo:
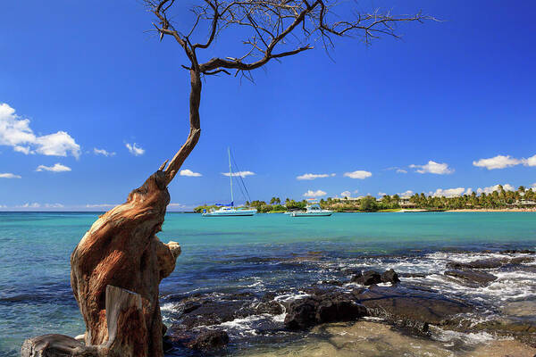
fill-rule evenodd
<path id="1" fill-rule="evenodd" d="M 160 242 L 158 233 L 170 203 L 167 190 L 201 134 L 199 104 L 202 77 L 216 74 L 244 76 L 272 60 L 312 50 L 329 50 L 335 37 L 357 37 L 365 44 L 386 35 L 398 37 L 398 22 L 429 17 L 394 16 L 390 12 L 354 12 L 339 19 L 331 0 L 198 0 L 189 10 L 192 23 L 178 29 L 172 11 L 184 12 L 175 0 L 143 0 L 155 14 L 161 40 L 172 37 L 186 54 L 182 65 L 190 74 L 189 134 L 167 165 L 163 163 L 126 203 L 100 216 L 71 254 L 71 286 L 86 323 L 84 344 L 68 336 L 46 335 L 25 342 L 23 356 L 63 351 L 73 356 L 163 356 L 165 331 L 158 286 L 172 273 L 180 245 Z M 345 12 L 348 9 L 345 9 Z M 183 24 L 180 24 L 183 25 Z M 242 54 L 199 61 L 225 30 L 244 37 Z M 205 31 L 202 35 L 199 32 Z M 234 34 L 234 32 L 233 32 Z M 194 37 L 204 39 L 196 42 Z M 48 354 L 47 354 L 48 355 Z"/>

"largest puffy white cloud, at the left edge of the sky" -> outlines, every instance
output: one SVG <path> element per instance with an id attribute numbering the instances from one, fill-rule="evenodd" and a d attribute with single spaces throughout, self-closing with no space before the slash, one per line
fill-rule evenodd
<path id="1" fill-rule="evenodd" d="M 51 156 L 80 156 L 80 145 L 65 131 L 36 136 L 29 128 L 29 120 L 21 119 L 8 104 L 0 104 L 0 145 L 12 146 L 22 154 Z"/>

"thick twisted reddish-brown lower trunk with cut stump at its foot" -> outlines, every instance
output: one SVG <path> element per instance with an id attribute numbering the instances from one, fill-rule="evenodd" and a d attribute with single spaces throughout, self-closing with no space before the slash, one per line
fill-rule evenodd
<path id="1" fill-rule="evenodd" d="M 155 236 L 170 203 L 161 170 L 126 203 L 99 217 L 71 254 L 71 286 L 86 322 L 85 344 L 69 336 L 30 338 L 23 357 L 163 356 L 158 286 L 175 268 L 180 245 Z"/>

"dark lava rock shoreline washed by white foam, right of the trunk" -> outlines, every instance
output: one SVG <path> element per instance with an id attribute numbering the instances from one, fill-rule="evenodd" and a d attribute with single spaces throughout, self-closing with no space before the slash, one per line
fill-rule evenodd
<path id="1" fill-rule="evenodd" d="M 498 279 L 496 271 L 536 272 L 533 251 L 490 255 L 447 262 L 441 278 L 470 291 L 491 286 Z M 371 319 L 425 339 L 433 339 L 433 330 L 440 328 L 461 334 L 485 333 L 494 339 L 513 338 L 527 348 L 536 348 L 536 320 L 531 315 L 534 301 L 517 306 L 521 313 L 512 313 L 497 311 L 497 306 L 482 299 L 469 300 L 420 284 L 425 273 L 344 269 L 339 276 L 263 295 L 222 292 L 167 296 L 165 301 L 172 304 L 172 324 L 165 336 L 167 353 L 217 355 L 236 352 L 237 346 L 244 344 L 279 345 L 298 341 L 324 324 Z"/>

